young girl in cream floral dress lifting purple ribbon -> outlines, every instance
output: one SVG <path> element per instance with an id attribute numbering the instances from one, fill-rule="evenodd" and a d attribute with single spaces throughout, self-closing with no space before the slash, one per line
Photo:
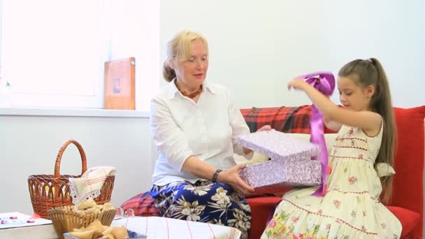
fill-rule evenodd
<path id="1" fill-rule="evenodd" d="M 395 124 L 387 77 L 375 59 L 356 59 L 338 73 L 343 108 L 304 80 L 303 90 L 338 131 L 325 196 L 317 187 L 283 196 L 261 238 L 399 238 L 401 223 L 380 203 L 391 195 Z M 381 192 L 384 191 L 382 197 Z"/>

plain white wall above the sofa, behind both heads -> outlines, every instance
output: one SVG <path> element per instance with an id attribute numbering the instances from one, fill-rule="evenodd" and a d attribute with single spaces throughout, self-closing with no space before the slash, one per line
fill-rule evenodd
<path id="1" fill-rule="evenodd" d="M 287 92 L 288 80 L 337 73 L 368 57 L 382 61 L 394 106 L 418 106 L 425 104 L 423 9 L 420 0 L 163 0 L 161 45 L 180 29 L 204 34 L 208 80 L 231 89 L 241 108 L 309 104 L 303 94 Z"/>

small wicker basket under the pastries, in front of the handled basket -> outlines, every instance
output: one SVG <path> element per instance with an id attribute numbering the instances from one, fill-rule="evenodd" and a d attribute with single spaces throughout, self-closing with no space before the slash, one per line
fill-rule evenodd
<path id="1" fill-rule="evenodd" d="M 87 227 L 94 220 L 99 219 L 103 226 L 110 226 L 115 217 L 115 209 L 85 214 L 71 210 L 71 206 L 64 206 L 48 210 L 50 219 L 52 219 L 53 226 L 57 236 L 64 238 L 64 233 L 72 231 L 73 229 L 80 229 Z"/>

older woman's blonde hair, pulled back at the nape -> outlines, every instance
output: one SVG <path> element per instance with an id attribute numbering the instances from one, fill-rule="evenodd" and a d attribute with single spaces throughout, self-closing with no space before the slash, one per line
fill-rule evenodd
<path id="1" fill-rule="evenodd" d="M 166 81 L 175 78 L 175 71 L 168 65 L 169 61 L 187 60 L 190 57 L 190 43 L 202 41 L 208 53 L 208 42 L 204 36 L 194 31 L 182 30 L 175 34 L 167 44 L 167 57 L 162 68 L 162 75 Z"/>

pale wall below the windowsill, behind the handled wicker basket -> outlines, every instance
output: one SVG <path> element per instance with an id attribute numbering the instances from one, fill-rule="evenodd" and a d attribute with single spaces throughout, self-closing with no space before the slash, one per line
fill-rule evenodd
<path id="1" fill-rule="evenodd" d="M 115 166 L 112 203 L 121 205 L 150 187 L 151 143 L 147 118 L 0 116 L 0 212 L 32 212 L 27 178 L 53 174 L 66 140 L 85 150 L 87 167 Z M 77 148 L 69 145 L 61 174 L 80 175 Z"/>

